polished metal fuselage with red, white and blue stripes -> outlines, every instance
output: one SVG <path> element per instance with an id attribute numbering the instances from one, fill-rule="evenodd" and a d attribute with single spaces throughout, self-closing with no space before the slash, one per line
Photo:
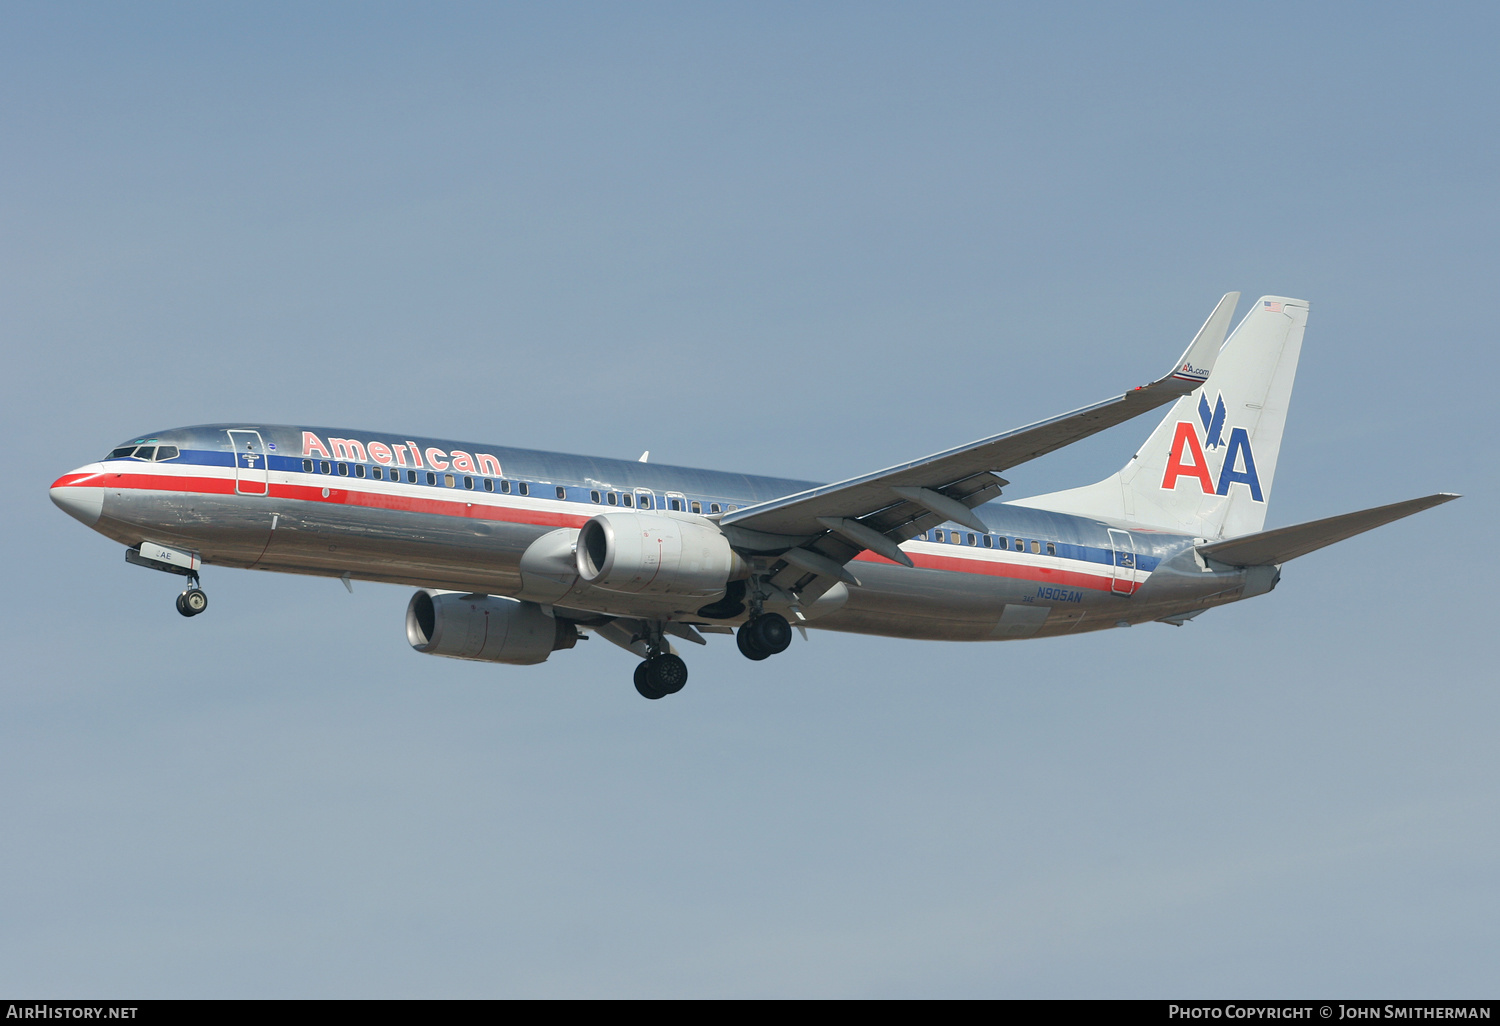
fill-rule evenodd
<path id="1" fill-rule="evenodd" d="M 255 432 L 272 450 L 267 459 L 237 462 L 231 430 Z M 628 596 L 567 579 L 568 538 L 591 516 L 628 512 L 628 501 L 711 520 L 718 510 L 807 488 L 501 447 L 486 448 L 495 474 L 422 465 L 399 468 L 400 480 L 393 482 L 387 474 L 396 468 L 369 454 L 363 462 L 303 456 L 300 428 L 216 424 L 159 432 L 152 441 L 176 447 L 178 456 L 84 466 L 60 478 L 54 496 L 84 496 L 88 513 L 98 498 L 92 526 L 99 532 L 126 546 L 190 550 L 206 566 L 508 596 L 568 615 L 644 615 Z M 422 440 L 410 442 L 410 453 L 420 460 L 423 452 L 448 458 L 478 448 L 460 446 Z M 406 480 L 408 470 L 416 480 Z M 1179 534 L 1004 502 L 978 513 L 988 534 L 950 524 L 904 543 L 915 567 L 864 554 L 850 564 L 858 586 L 838 586 L 812 603 L 808 626 L 942 640 L 1042 638 L 1176 620 L 1275 584 L 1272 567 L 1208 562 L 1194 550 L 1196 540 Z M 696 598 L 646 612 L 699 624 L 742 620 L 705 616 L 702 604 Z"/>

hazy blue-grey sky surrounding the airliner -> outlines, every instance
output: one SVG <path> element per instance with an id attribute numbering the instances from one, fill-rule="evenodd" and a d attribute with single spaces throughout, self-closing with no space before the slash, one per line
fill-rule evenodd
<path id="1" fill-rule="evenodd" d="M 1500 964 L 1491 4 L 0 12 L 0 992 L 1482 996 Z M 412 652 L 406 591 L 56 510 L 332 423 L 836 480 L 1311 300 L 1270 525 L 1460 502 L 1182 628 Z M 1006 474 L 1114 471 L 1154 418 Z"/>

